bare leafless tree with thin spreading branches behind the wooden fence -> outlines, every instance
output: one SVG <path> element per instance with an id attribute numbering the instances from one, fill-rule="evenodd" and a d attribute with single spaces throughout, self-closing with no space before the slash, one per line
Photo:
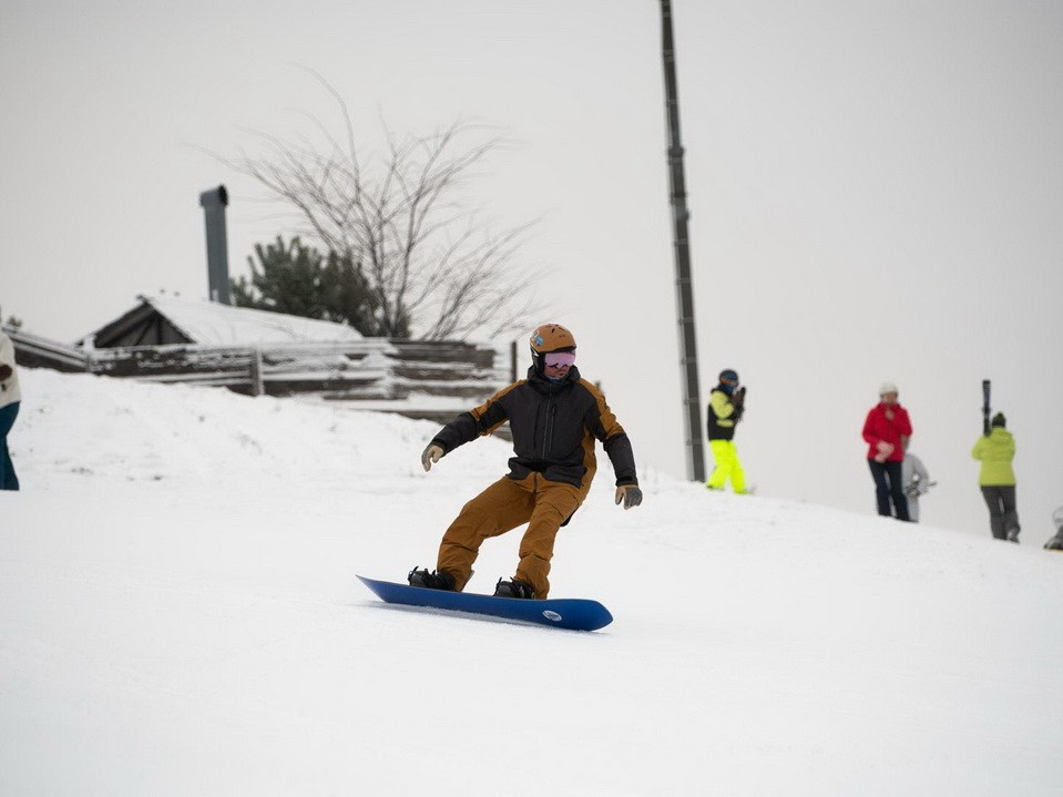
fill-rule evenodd
<path id="1" fill-rule="evenodd" d="M 343 115 L 343 143 L 310 116 L 326 145 L 255 132 L 267 155 L 222 159 L 297 208 L 304 235 L 365 269 L 381 336 L 463 339 L 527 326 L 535 306 L 529 270 L 514 256 L 531 224 L 494 232 L 462 206 L 461 188 L 500 137 L 456 122 L 399 139 L 364 165 L 343 98 L 320 75 Z M 467 143 L 471 142 L 471 143 Z"/>

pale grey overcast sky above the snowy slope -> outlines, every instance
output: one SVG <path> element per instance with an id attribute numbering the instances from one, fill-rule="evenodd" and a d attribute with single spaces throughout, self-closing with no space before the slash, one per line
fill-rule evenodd
<path id="1" fill-rule="evenodd" d="M 1019 442 L 1024 539 L 1063 503 L 1063 4 L 675 0 L 703 399 L 748 385 L 762 492 L 873 511 L 860 427 L 892 380 L 940 482 L 923 519 L 988 534 L 980 382 Z M 0 0 L 0 311 L 74 340 L 161 289 L 206 296 L 200 192 L 229 260 L 286 232 L 203 153 L 338 124 L 297 65 L 380 119 L 513 146 L 476 198 L 543 275 L 635 452 L 684 474 L 652 0 Z M 31 400 L 28 399 L 28 400 Z M 416 456 L 413 452 L 411 456 Z M 711 463 L 709 463 L 711 464 Z"/>

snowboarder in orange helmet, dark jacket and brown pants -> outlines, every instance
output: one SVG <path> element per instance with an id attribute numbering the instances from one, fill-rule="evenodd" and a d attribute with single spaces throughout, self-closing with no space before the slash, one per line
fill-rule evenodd
<path id="1" fill-rule="evenodd" d="M 531 335 L 528 377 L 459 415 L 425 448 L 421 464 L 430 471 L 440 458 L 508 420 L 515 456 L 509 474 L 469 501 L 447 529 L 436 570 L 410 571 L 412 586 L 461 591 L 483 541 L 527 523 L 517 571 L 511 580 L 499 579 L 494 594 L 545 599 L 554 538 L 583 503 L 597 469 L 595 440 L 612 462 L 616 503 L 624 509 L 642 503 L 627 433 L 602 392 L 580 376 L 575 351 L 572 333 L 543 324 Z"/>

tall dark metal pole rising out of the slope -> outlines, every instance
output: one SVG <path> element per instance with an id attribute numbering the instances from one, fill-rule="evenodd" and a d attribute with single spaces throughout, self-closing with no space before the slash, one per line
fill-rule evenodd
<path id="1" fill-rule="evenodd" d="M 679 366 L 686 389 L 686 476 L 705 481 L 705 447 L 702 440 L 702 397 L 697 379 L 697 341 L 694 334 L 694 284 L 691 277 L 691 241 L 683 175 L 683 144 L 679 139 L 679 98 L 675 78 L 675 41 L 672 32 L 672 2 L 661 0 L 662 51 L 664 54 L 665 108 L 668 116 L 668 180 L 672 195 L 675 288 L 678 309 Z"/>

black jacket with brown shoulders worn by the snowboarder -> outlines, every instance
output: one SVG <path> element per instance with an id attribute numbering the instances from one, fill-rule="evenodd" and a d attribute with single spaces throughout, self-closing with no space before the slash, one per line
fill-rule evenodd
<path id="1" fill-rule="evenodd" d="M 450 452 L 509 420 L 513 433 L 510 478 L 542 473 L 551 481 L 589 489 L 597 463 L 594 440 L 605 447 L 616 484 L 637 484 L 631 440 L 605 397 L 580 378 L 573 366 L 564 381 L 552 382 L 528 369 L 528 378 L 502 388 L 484 403 L 462 412 L 432 442 Z"/>

